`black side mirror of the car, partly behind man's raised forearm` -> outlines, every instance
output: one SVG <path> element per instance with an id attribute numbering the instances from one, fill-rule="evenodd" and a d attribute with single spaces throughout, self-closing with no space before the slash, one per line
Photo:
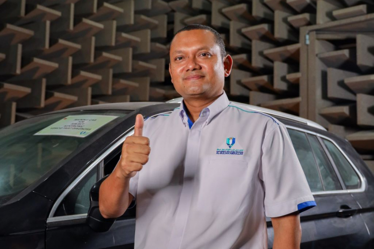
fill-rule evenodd
<path id="1" fill-rule="evenodd" d="M 99 210 L 99 189 L 101 183 L 109 175 L 103 177 L 98 182 L 96 182 L 90 190 L 90 208 L 88 210 L 86 223 L 95 232 L 107 232 L 113 225 L 115 218 L 105 219 Z"/>

